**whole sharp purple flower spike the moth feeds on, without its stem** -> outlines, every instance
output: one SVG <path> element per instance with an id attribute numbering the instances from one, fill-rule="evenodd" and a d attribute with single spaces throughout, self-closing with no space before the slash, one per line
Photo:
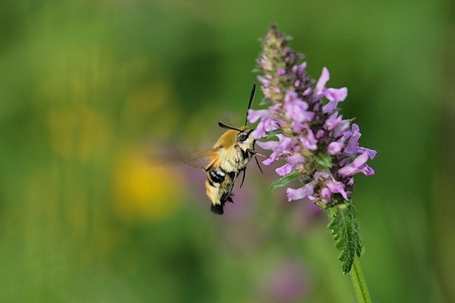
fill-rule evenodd
<path id="1" fill-rule="evenodd" d="M 303 56 L 287 45 L 288 40 L 273 24 L 262 40 L 263 53 L 257 62 L 264 74 L 257 78 L 269 106 L 249 110 L 248 120 L 259 121 L 253 131 L 257 139 L 271 131 L 278 133 L 278 141 L 257 141 L 272 151 L 262 163 L 285 160 L 286 164 L 276 169 L 277 174 L 297 171 L 306 183 L 297 189 L 288 188 L 288 199 L 308 197 L 326 208 L 351 198 L 353 175 L 374 174 L 366 162 L 376 156 L 376 151 L 358 146 L 358 125 L 338 114 L 347 88 L 326 87 L 330 79 L 326 67 L 317 81 L 310 79 L 305 71 L 307 63 L 297 63 Z"/>

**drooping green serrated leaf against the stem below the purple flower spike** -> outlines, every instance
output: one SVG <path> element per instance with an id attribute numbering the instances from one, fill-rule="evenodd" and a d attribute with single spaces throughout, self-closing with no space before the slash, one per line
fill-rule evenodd
<path id="1" fill-rule="evenodd" d="M 355 208 L 351 201 L 344 201 L 327 211 L 330 223 L 327 226 L 332 230 L 333 239 L 340 256 L 343 273 L 347 274 L 352 267 L 355 255 L 360 257 L 362 244 L 358 234 L 358 222 L 355 219 Z"/>

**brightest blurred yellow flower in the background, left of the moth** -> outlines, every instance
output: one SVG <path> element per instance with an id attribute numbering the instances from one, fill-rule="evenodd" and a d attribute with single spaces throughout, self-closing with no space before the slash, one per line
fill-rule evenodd
<path id="1" fill-rule="evenodd" d="M 185 188 L 171 166 L 148 166 L 140 151 L 122 153 L 114 172 L 114 207 L 125 219 L 161 220 L 179 206 Z"/>

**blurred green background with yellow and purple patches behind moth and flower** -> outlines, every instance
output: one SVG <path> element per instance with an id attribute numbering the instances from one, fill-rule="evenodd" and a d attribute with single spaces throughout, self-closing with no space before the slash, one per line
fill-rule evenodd
<path id="1" fill-rule="evenodd" d="M 327 218 L 251 165 L 147 166 L 241 125 L 271 22 L 378 151 L 354 204 L 375 302 L 455 301 L 455 8 L 440 1 L 0 2 L 1 302 L 353 302 Z M 261 94 L 256 97 L 258 106 Z M 238 185 L 237 185 L 238 186 Z"/>

